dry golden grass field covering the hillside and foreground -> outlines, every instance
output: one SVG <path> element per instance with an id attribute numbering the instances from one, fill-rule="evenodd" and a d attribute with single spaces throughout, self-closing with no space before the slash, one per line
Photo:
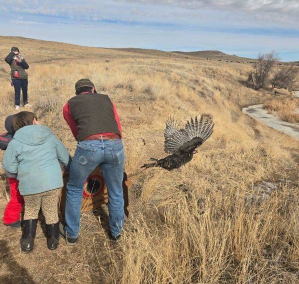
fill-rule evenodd
<path id="1" fill-rule="evenodd" d="M 299 143 L 241 112 L 244 105 L 272 97 L 242 84 L 249 64 L 12 37 L 0 42 L 2 57 L 17 45 L 32 63 L 32 110 L 71 153 L 76 142 L 61 108 L 74 95 L 75 81 L 88 77 L 98 92 L 109 94 L 133 181 L 130 214 L 115 246 L 107 237 L 104 205 L 82 215 L 74 248 L 61 240 L 49 251 L 38 225 L 34 251 L 24 255 L 20 231 L 0 226 L 0 283 L 298 283 Z M 33 63 L 36 54 L 42 63 Z M 0 130 L 14 112 L 6 65 L 0 65 Z M 213 116 L 214 132 L 191 162 L 173 171 L 140 169 L 148 157 L 165 155 L 167 116 L 175 115 L 183 126 L 206 112 Z M 246 202 L 262 180 L 281 186 L 267 199 Z M 1 181 L 4 192 L 3 172 Z"/>

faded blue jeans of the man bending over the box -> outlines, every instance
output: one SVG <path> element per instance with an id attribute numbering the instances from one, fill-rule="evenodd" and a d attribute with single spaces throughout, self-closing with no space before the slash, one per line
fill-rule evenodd
<path id="1" fill-rule="evenodd" d="M 80 228 L 80 209 L 84 182 L 100 165 L 108 189 L 109 226 L 113 236 L 120 234 L 124 221 L 122 191 L 124 149 L 121 139 L 86 140 L 77 144 L 66 184 L 65 231 L 76 238 Z"/>

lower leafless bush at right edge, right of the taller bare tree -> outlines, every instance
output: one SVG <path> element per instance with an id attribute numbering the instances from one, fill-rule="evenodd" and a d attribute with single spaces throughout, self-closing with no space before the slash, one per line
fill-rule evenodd
<path id="1" fill-rule="evenodd" d="M 269 82 L 272 90 L 273 88 L 292 88 L 297 80 L 298 68 L 294 63 L 289 63 L 279 65 Z"/>

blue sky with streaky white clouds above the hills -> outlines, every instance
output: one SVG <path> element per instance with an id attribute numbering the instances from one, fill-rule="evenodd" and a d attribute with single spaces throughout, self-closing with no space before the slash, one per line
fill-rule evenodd
<path id="1" fill-rule="evenodd" d="M 0 0 L 0 35 L 299 60 L 299 0 Z"/>

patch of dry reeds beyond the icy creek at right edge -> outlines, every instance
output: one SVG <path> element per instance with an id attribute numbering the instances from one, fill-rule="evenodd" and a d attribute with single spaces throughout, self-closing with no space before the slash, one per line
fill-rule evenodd
<path id="1" fill-rule="evenodd" d="M 299 113 L 295 112 L 298 107 L 299 98 L 272 99 L 263 104 L 263 108 L 267 109 L 268 113 L 276 111 L 282 120 L 291 123 L 299 122 Z"/>

